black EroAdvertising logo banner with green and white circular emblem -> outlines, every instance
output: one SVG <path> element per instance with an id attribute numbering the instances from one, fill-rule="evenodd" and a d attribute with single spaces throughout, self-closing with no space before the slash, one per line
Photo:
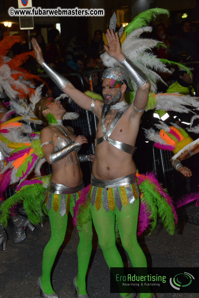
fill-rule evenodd
<path id="1" fill-rule="evenodd" d="M 111 293 L 199 293 L 198 267 L 111 268 Z"/>

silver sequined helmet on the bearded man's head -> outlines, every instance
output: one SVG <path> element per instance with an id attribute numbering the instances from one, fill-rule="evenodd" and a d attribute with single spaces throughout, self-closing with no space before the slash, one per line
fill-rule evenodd
<path id="1" fill-rule="evenodd" d="M 118 82 L 122 82 L 127 85 L 127 91 L 132 91 L 131 82 L 127 71 L 119 64 L 111 66 L 107 68 L 102 75 L 102 80 L 104 77 L 109 79 L 116 80 Z"/>

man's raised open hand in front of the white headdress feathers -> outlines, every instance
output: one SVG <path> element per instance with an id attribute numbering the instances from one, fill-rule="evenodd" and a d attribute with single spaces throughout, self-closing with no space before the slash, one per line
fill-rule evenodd
<path id="1" fill-rule="evenodd" d="M 114 33 L 113 30 L 108 30 L 106 33 L 107 41 L 109 46 L 104 45 L 105 50 L 109 54 L 109 56 L 115 58 L 116 60 L 123 61 L 125 56 L 121 52 L 120 42 L 118 38 L 118 33 Z"/>

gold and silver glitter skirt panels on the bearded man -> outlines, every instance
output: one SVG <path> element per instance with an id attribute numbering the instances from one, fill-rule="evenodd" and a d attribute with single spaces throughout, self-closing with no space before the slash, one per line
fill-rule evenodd
<path id="1" fill-rule="evenodd" d="M 92 206 L 95 204 L 97 211 L 103 206 L 106 211 L 110 208 L 112 211 L 118 208 L 121 211 L 122 206 L 127 206 L 128 203 L 132 204 L 135 200 L 140 198 L 140 190 L 137 182 L 119 186 L 119 187 L 97 187 L 90 186 L 89 199 Z"/>

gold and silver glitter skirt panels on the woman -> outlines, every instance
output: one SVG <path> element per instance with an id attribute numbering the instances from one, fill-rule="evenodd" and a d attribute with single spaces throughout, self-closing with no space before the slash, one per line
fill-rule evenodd
<path id="1" fill-rule="evenodd" d="M 50 208 L 53 208 L 55 212 L 59 210 L 62 217 L 64 214 L 68 216 L 71 200 L 74 200 L 74 204 L 76 204 L 76 201 L 80 198 L 80 194 L 81 191 L 78 191 L 77 193 L 68 193 L 66 195 L 47 191 L 44 204 L 47 207 L 47 211 L 49 211 Z"/>

